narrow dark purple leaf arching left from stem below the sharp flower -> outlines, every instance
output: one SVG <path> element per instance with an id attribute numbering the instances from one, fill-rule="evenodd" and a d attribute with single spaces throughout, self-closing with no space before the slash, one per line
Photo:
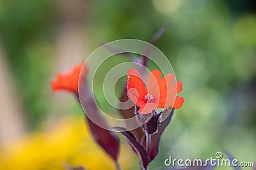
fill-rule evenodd
<path id="1" fill-rule="evenodd" d="M 145 150 L 144 146 L 142 146 L 138 141 L 136 141 L 135 136 L 130 132 L 127 131 L 124 127 L 113 127 L 116 131 L 120 131 L 124 138 L 129 142 L 132 148 L 136 151 L 137 155 L 141 160 L 141 166 L 147 169 L 148 164 L 150 163 L 150 159 L 148 157 L 148 153 Z"/>

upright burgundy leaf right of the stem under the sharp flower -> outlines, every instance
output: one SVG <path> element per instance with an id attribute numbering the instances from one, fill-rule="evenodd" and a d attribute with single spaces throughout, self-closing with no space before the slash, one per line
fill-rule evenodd
<path id="1" fill-rule="evenodd" d="M 170 122 L 172 120 L 173 111 L 174 111 L 174 109 L 172 109 L 171 113 L 164 120 L 164 122 L 160 123 L 157 133 L 152 135 L 150 153 L 149 153 L 149 157 L 151 160 L 153 160 L 159 152 L 160 138 L 164 132 L 164 129 L 167 127 L 168 124 L 170 124 Z M 163 112 L 162 116 L 164 116 L 164 114 L 166 114 L 166 113 Z"/>

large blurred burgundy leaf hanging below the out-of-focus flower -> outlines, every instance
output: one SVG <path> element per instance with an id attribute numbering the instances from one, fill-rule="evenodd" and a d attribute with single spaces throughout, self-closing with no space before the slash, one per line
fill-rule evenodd
<path id="1" fill-rule="evenodd" d="M 116 161 L 120 145 L 119 138 L 114 132 L 106 130 L 109 129 L 108 124 L 100 116 L 95 99 L 86 80 L 79 85 L 79 101 L 86 112 L 86 120 L 92 132 L 93 139 Z M 101 127 L 93 123 L 91 119 L 97 120 L 97 124 L 99 123 Z"/>

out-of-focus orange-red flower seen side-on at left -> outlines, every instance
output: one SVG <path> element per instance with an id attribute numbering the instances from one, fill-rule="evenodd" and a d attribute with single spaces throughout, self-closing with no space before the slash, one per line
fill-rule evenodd
<path id="1" fill-rule="evenodd" d="M 66 74 L 57 74 L 57 80 L 51 81 L 52 90 L 69 90 L 78 93 L 78 81 L 82 66 L 83 64 L 75 66 Z M 83 68 L 83 73 L 86 74 L 86 68 Z"/>

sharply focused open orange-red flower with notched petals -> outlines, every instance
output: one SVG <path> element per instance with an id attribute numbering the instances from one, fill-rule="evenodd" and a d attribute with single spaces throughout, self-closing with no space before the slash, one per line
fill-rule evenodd
<path id="1" fill-rule="evenodd" d="M 128 96 L 134 104 L 140 107 L 138 113 L 150 113 L 157 108 L 179 109 L 184 103 L 184 98 L 176 94 L 181 92 L 182 83 L 180 81 L 173 83 L 174 80 L 175 76 L 172 73 L 161 78 L 161 71 L 154 69 L 148 74 L 146 85 L 136 69 L 129 69 Z"/>

